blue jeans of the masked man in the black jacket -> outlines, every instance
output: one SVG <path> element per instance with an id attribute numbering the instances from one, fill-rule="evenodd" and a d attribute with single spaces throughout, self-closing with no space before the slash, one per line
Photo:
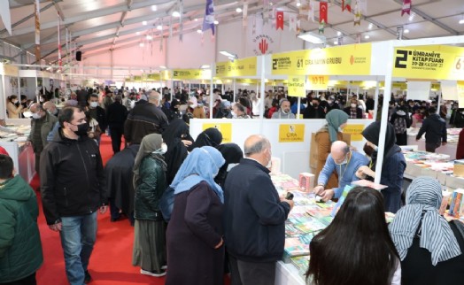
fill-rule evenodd
<path id="1" fill-rule="evenodd" d="M 97 237 L 97 212 L 61 218 L 61 246 L 65 253 L 67 280 L 83 285 L 85 271 Z"/>

